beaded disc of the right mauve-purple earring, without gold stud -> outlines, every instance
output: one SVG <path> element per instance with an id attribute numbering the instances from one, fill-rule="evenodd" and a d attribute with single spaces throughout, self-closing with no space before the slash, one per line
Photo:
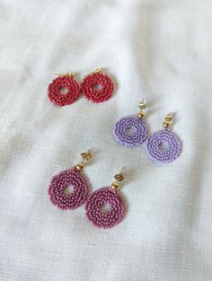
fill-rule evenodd
<path id="1" fill-rule="evenodd" d="M 102 211 L 105 204 L 110 206 Z M 119 224 L 124 215 L 124 203 L 118 192 L 110 187 L 94 191 L 85 203 L 86 216 L 90 222 L 99 228 L 111 228 Z"/>

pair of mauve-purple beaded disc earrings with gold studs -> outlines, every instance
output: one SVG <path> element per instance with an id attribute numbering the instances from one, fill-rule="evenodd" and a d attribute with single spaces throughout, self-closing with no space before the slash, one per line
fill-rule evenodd
<path id="1" fill-rule="evenodd" d="M 111 228 L 119 224 L 124 215 L 124 202 L 119 195 L 119 182 L 124 180 L 122 171 L 114 176 L 109 187 L 98 189 L 89 194 L 89 189 L 80 171 L 85 162 L 92 158 L 90 151 L 81 154 L 82 161 L 72 169 L 61 171 L 49 183 L 49 198 L 52 204 L 62 210 L 74 210 L 85 203 L 85 214 L 96 227 Z M 67 188 L 72 187 L 71 193 Z M 109 209 L 104 210 L 105 206 Z"/>

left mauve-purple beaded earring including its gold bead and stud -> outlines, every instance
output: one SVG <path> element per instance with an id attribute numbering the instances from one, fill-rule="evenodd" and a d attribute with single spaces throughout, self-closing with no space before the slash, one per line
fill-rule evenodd
<path id="1" fill-rule="evenodd" d="M 92 158 L 90 151 L 81 154 L 82 161 L 72 169 L 61 171 L 52 178 L 49 183 L 49 199 L 62 210 L 74 210 L 82 206 L 88 195 L 88 186 L 80 171 L 84 169 L 84 163 Z M 71 193 L 67 192 L 72 187 Z"/>

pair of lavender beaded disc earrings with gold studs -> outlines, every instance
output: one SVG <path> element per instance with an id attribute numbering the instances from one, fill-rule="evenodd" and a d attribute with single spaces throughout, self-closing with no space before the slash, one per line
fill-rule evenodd
<path id="1" fill-rule="evenodd" d="M 120 145 L 137 146 L 146 142 L 146 152 L 155 162 L 172 162 L 181 154 L 181 142 L 170 130 L 171 113 L 165 116 L 163 129 L 148 136 L 145 121 L 144 101 L 139 102 L 137 117 L 119 119 L 113 128 L 113 136 Z"/>

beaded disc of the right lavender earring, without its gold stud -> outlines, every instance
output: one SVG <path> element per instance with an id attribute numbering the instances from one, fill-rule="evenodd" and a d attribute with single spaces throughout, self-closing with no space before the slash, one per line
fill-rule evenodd
<path id="1" fill-rule="evenodd" d="M 162 129 L 148 137 L 146 151 L 155 162 L 172 162 L 181 154 L 181 144 L 170 129 Z"/>

